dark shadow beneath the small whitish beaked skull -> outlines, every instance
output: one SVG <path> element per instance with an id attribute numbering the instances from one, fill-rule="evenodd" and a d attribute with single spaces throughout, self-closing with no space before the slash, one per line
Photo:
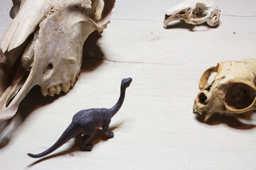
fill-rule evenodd
<path id="1" fill-rule="evenodd" d="M 220 23 L 218 23 L 217 26 L 209 26 L 207 23 L 201 23 L 199 25 L 193 25 L 186 23 L 185 21 L 173 21 L 169 23 L 166 29 L 174 29 L 174 28 L 183 28 L 183 29 L 188 29 L 191 31 L 199 31 L 199 30 L 209 30 L 210 28 L 218 28 L 220 26 Z"/>

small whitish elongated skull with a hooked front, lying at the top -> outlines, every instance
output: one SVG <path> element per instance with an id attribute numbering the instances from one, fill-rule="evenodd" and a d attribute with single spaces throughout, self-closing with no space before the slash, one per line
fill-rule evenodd
<path id="1" fill-rule="evenodd" d="M 186 0 L 166 11 L 164 28 L 171 21 L 183 20 L 193 25 L 208 23 L 217 26 L 220 19 L 220 9 L 210 0 Z"/>

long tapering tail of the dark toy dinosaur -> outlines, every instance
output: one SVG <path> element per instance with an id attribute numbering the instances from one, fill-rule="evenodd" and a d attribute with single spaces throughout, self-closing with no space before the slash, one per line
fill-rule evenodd
<path id="1" fill-rule="evenodd" d="M 73 123 L 70 123 L 68 128 L 63 132 L 63 135 L 60 136 L 60 138 L 57 140 L 57 142 L 55 142 L 55 144 L 53 144 L 52 147 L 50 147 L 49 149 L 46 149 L 44 152 L 41 152 L 40 154 L 28 153 L 28 156 L 33 158 L 44 157 L 47 154 L 50 154 L 51 152 L 55 151 L 55 149 L 58 149 L 59 147 L 61 147 L 63 144 L 65 144 L 65 142 L 68 142 L 68 140 L 75 137 L 75 135 L 78 135 L 79 131 L 80 130 L 78 127 L 76 127 Z"/>

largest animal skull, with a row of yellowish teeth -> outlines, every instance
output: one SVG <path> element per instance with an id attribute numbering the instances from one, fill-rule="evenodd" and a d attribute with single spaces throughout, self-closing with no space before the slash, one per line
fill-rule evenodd
<path id="1" fill-rule="evenodd" d="M 0 120 L 13 117 L 33 86 L 43 96 L 67 93 L 88 35 L 102 32 L 114 0 L 14 0 L 15 17 L 0 42 Z"/>

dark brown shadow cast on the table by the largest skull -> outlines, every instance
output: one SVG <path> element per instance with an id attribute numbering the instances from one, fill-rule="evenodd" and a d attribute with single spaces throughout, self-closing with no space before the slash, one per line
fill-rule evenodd
<path id="1" fill-rule="evenodd" d="M 97 45 L 97 40 L 100 37 L 101 36 L 97 34 L 97 31 L 95 31 L 85 41 L 85 44 L 83 45 L 81 74 L 82 72 L 92 72 L 102 64 L 105 55 L 100 46 Z M 9 143 L 11 136 L 14 134 L 18 126 L 26 120 L 31 112 L 65 96 L 65 93 L 61 92 L 60 95 L 44 97 L 41 95 L 40 91 L 40 86 L 34 86 L 19 104 L 18 111 L 14 118 L 0 123 L 0 149 Z M 70 91 L 72 91 L 72 89 L 70 89 Z"/>

